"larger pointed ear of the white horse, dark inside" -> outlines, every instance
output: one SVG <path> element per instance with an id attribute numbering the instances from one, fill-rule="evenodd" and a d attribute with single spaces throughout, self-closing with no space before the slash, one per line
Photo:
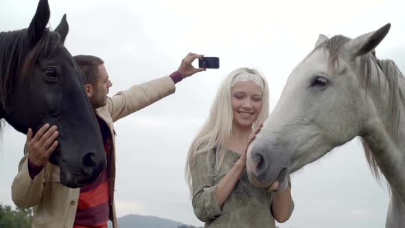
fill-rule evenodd
<path id="1" fill-rule="evenodd" d="M 354 38 L 345 45 L 345 53 L 352 59 L 368 54 L 380 44 L 386 34 L 388 34 L 390 27 L 391 24 L 388 23 L 374 32 L 369 32 Z"/>

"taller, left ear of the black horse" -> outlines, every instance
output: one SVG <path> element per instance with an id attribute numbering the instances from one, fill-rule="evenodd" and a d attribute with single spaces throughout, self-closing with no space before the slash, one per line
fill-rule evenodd
<path id="1" fill-rule="evenodd" d="M 34 18 L 32 18 L 30 27 L 28 27 L 28 38 L 34 43 L 38 42 L 44 35 L 49 16 L 51 16 L 51 12 L 48 0 L 40 0 Z"/>

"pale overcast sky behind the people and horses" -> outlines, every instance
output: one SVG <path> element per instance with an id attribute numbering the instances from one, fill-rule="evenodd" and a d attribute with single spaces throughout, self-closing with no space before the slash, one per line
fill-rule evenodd
<path id="1" fill-rule="evenodd" d="M 237 67 L 257 67 L 270 83 L 273 109 L 288 75 L 320 33 L 354 38 L 386 23 L 377 48 L 405 71 L 401 1 L 101 1 L 50 0 L 50 26 L 67 13 L 72 55 L 106 62 L 110 95 L 175 71 L 188 52 L 218 56 L 220 69 L 176 85 L 176 93 L 115 123 L 118 216 L 142 214 L 203 225 L 184 180 L 187 150 L 216 90 Z M 30 24 L 37 1 L 0 0 L 0 31 Z M 25 135 L 8 126 L 0 149 L 0 203 L 14 205 L 10 186 Z M 389 194 L 375 182 L 358 139 L 292 175 L 295 210 L 282 228 L 384 227 Z"/>

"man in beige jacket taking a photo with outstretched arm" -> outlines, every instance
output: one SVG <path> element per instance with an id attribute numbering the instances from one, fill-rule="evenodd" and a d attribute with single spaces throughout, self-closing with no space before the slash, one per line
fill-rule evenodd
<path id="1" fill-rule="evenodd" d="M 112 83 L 103 60 L 95 56 L 74 57 L 86 76 L 84 89 L 100 124 L 107 167 L 90 185 L 78 189 L 65 187 L 60 183 L 58 166 L 48 162 L 58 146 L 57 127 L 45 124 L 34 137 L 29 129 L 25 156 L 12 183 L 12 199 L 19 207 L 34 207 L 33 228 L 106 228 L 108 220 L 117 228 L 113 122 L 174 93 L 177 82 L 205 70 L 192 66 L 196 58 L 202 57 L 189 53 L 170 76 L 135 85 L 111 98 L 107 93 Z"/>

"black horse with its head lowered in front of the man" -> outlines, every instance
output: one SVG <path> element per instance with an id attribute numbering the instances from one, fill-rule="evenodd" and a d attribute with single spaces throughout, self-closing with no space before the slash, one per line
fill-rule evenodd
<path id="1" fill-rule="evenodd" d="M 102 172 L 106 155 L 84 74 L 63 46 L 66 15 L 54 32 L 46 27 L 49 15 L 48 1 L 40 0 L 30 27 L 0 33 L 0 119 L 24 134 L 58 126 L 49 160 L 60 167 L 63 185 L 82 187 Z"/>

